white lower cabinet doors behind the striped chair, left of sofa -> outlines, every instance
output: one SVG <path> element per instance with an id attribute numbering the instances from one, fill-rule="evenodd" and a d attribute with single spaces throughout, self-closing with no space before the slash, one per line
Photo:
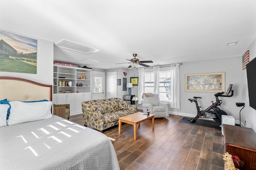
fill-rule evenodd
<path id="1" fill-rule="evenodd" d="M 76 94 L 58 94 L 58 104 L 70 104 L 70 114 L 76 112 Z"/>

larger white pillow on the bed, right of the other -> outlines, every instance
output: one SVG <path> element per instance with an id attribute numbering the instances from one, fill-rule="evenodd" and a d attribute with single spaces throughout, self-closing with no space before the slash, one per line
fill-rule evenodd
<path id="1" fill-rule="evenodd" d="M 52 117 L 52 102 L 9 102 L 11 105 L 8 125 L 16 125 L 30 121 L 48 119 Z"/>

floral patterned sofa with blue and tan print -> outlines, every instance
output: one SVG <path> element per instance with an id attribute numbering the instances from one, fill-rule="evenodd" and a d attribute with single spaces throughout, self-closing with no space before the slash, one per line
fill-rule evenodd
<path id="1" fill-rule="evenodd" d="M 137 105 L 127 105 L 120 98 L 82 102 L 84 125 L 103 131 L 118 124 L 118 118 L 137 112 Z"/>

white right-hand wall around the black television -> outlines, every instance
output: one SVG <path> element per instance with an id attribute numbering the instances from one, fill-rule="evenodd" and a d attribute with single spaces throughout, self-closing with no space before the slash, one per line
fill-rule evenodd
<path id="1" fill-rule="evenodd" d="M 252 44 L 246 49 L 246 51 L 249 50 L 249 59 L 252 61 L 256 57 L 256 39 L 252 42 Z M 244 51 L 245 52 L 245 51 Z M 242 109 L 241 111 L 241 122 L 245 123 L 245 127 L 250 127 L 254 131 L 256 131 L 256 110 L 249 106 L 249 95 L 248 95 L 248 84 L 247 84 L 247 73 L 246 69 L 242 70 L 242 88 L 241 93 L 241 99 L 239 102 L 243 102 L 246 104 L 246 107 Z"/>

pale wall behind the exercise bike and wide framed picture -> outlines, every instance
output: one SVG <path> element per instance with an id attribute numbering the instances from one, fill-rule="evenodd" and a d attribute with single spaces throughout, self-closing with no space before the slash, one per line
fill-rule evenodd
<path id="1" fill-rule="evenodd" d="M 236 106 L 236 102 L 240 102 L 241 99 L 241 71 L 241 57 L 183 63 L 180 66 L 181 110 L 171 109 L 172 113 L 195 117 L 196 105 L 194 102 L 191 103 L 188 101 L 189 98 L 193 98 L 194 96 L 202 97 L 202 99 L 198 100 L 198 104 L 202 110 L 209 107 L 212 104 L 211 101 L 216 101 L 214 92 L 185 92 L 185 74 L 225 72 L 225 91 L 229 84 L 233 84 L 232 90 L 234 90 L 234 96 L 219 97 L 222 100 L 220 109 L 226 111 L 228 115 L 232 115 L 236 123 L 239 123 L 240 109 Z"/>

